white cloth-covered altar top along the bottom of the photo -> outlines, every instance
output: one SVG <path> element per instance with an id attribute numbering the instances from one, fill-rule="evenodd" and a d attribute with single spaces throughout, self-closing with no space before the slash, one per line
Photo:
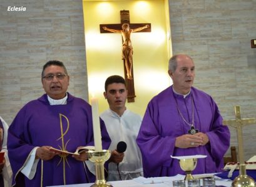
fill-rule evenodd
<path id="1" fill-rule="evenodd" d="M 193 175 L 195 178 L 203 178 L 208 176 L 214 176 L 215 173 L 212 174 L 203 174 L 203 175 Z M 155 177 L 155 178 L 144 178 L 139 177 L 135 178 L 133 180 L 126 180 L 126 181 L 109 181 L 108 183 L 112 185 L 113 187 L 166 187 L 166 186 L 173 186 L 172 181 L 173 180 L 183 180 L 185 178 L 185 175 L 176 175 L 176 176 L 163 176 L 163 177 Z M 215 184 L 216 186 L 227 186 L 230 187 L 232 180 L 226 180 L 219 178 L 217 176 L 214 176 L 215 178 Z M 203 184 L 202 179 L 200 181 L 201 186 Z M 93 183 L 86 183 L 86 184 L 79 184 L 79 185 L 60 185 L 60 186 L 54 186 L 54 187 L 90 187 L 93 185 Z M 53 186 L 47 186 L 47 187 L 53 187 Z"/>

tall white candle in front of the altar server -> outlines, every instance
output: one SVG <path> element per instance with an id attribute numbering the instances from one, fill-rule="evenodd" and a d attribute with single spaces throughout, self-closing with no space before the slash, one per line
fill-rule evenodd
<path id="1" fill-rule="evenodd" d="M 102 151 L 98 99 L 95 97 L 91 98 L 91 113 L 93 115 L 93 137 L 95 139 L 95 151 Z"/>

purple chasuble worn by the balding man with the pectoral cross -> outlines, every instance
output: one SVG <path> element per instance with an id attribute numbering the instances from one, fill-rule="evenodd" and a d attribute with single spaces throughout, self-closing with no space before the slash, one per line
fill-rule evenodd
<path id="1" fill-rule="evenodd" d="M 192 97 L 194 101 L 194 125 L 199 132 L 206 133 L 207 145 L 196 148 L 177 148 L 175 139 L 187 134 L 192 123 Z M 177 102 L 175 101 L 177 100 Z M 230 145 L 228 127 L 222 125 L 222 116 L 212 97 L 192 87 L 190 94 L 173 93 L 172 86 L 156 95 L 146 108 L 140 132 L 136 139 L 140 146 L 145 177 L 185 175 L 173 156 L 207 155 L 197 160 L 192 174 L 215 173 L 223 168 L 223 156 Z"/>

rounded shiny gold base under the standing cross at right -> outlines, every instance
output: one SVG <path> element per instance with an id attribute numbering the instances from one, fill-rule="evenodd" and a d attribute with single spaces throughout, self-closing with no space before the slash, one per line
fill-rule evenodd
<path id="1" fill-rule="evenodd" d="M 254 187 L 255 181 L 252 177 L 246 175 L 246 166 L 239 166 L 239 175 L 232 182 L 233 187 Z"/>

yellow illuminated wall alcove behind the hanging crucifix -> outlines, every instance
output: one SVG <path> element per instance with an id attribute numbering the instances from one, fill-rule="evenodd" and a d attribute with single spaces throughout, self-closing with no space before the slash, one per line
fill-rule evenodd
<path id="1" fill-rule="evenodd" d="M 131 33 L 136 97 L 126 107 L 143 116 L 151 98 L 171 84 L 167 73 L 172 55 L 168 7 L 167 0 L 83 0 L 89 100 L 98 98 L 100 113 L 108 108 L 103 97 L 106 78 L 125 76 L 121 34 L 101 34 L 100 24 L 119 24 L 122 10 L 130 11 L 131 23 L 151 24 L 151 32 Z"/>

